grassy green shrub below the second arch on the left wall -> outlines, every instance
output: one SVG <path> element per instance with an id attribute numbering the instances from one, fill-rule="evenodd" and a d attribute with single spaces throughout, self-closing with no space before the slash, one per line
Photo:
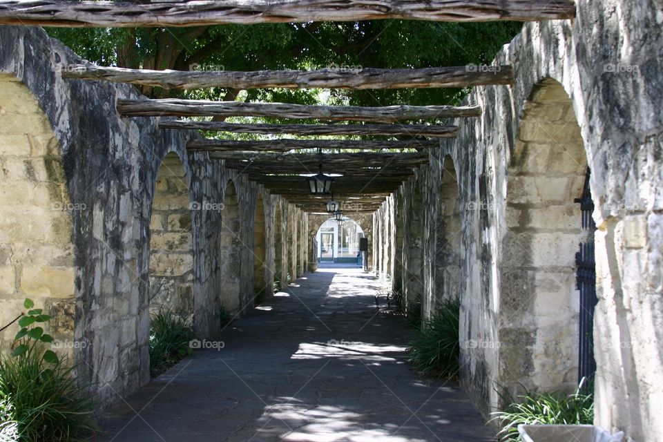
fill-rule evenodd
<path id="1" fill-rule="evenodd" d="M 150 374 L 157 376 L 191 354 L 193 327 L 174 311 L 160 311 L 150 318 Z"/>

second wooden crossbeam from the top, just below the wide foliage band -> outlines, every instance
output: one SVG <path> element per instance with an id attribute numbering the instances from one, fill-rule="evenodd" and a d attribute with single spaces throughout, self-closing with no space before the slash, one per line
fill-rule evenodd
<path id="1" fill-rule="evenodd" d="M 195 66 L 194 66 L 195 68 Z M 62 77 L 106 80 L 118 83 L 158 86 L 166 89 L 198 88 L 286 88 L 286 89 L 403 89 L 466 88 L 513 84 L 511 66 L 453 66 L 422 69 L 343 69 L 318 70 L 148 70 L 71 65 Z"/>

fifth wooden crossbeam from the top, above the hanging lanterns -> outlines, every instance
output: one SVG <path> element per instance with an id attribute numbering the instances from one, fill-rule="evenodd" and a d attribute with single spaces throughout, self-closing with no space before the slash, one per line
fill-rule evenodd
<path id="1" fill-rule="evenodd" d="M 186 144 L 189 151 L 257 151 L 257 152 L 287 152 L 297 149 L 418 149 L 438 148 L 439 142 L 430 140 L 407 141 L 356 141 L 356 140 L 265 140 L 265 141 L 238 141 L 238 140 L 192 140 Z"/>

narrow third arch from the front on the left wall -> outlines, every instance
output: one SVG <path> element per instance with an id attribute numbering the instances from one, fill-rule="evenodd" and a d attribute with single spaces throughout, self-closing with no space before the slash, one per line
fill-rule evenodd
<path id="1" fill-rule="evenodd" d="M 235 183 L 226 184 L 223 198 L 220 234 L 220 304 L 228 314 L 242 308 L 242 240 L 240 237 L 240 206 Z"/>

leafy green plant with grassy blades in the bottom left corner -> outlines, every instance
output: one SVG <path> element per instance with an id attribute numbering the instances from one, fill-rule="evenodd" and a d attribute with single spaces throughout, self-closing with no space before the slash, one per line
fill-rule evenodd
<path id="1" fill-rule="evenodd" d="M 90 436 L 95 402 L 75 381 L 73 367 L 47 345 L 53 338 L 37 324 L 50 316 L 26 299 L 11 357 L 0 355 L 0 441 L 75 441 Z"/>

